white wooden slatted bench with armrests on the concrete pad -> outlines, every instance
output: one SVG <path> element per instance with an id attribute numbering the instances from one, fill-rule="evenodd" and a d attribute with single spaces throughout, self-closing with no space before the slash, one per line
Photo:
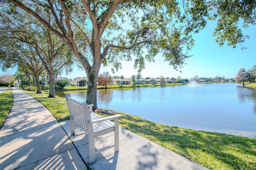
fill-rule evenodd
<path id="1" fill-rule="evenodd" d="M 103 152 L 104 150 L 115 147 L 115 152 L 119 150 L 119 124 L 118 117 L 121 115 L 114 115 L 109 117 L 101 117 L 96 113 L 92 112 L 93 105 L 87 105 L 86 102 L 78 102 L 68 96 L 66 96 L 66 101 L 68 104 L 68 111 L 70 114 L 70 131 L 71 135 L 75 135 L 75 125 L 76 121 L 81 128 L 89 137 L 89 163 L 95 162 L 95 154 Z M 109 121 L 114 119 L 114 123 Z M 94 139 L 98 136 L 114 132 L 115 141 L 114 144 L 104 147 L 103 149 L 97 150 L 95 152 Z"/>

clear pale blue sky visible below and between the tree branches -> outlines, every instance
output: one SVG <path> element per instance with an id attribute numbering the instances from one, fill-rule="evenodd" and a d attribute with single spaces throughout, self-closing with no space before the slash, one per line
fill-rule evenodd
<path id="1" fill-rule="evenodd" d="M 212 36 L 214 31 L 214 22 L 208 22 L 206 28 L 201 30 L 198 34 L 194 35 L 194 47 L 190 51 L 192 57 L 186 59 L 183 68 L 180 70 L 182 73 L 173 69 L 168 62 L 165 62 L 161 56 L 155 58 L 156 62 L 146 63 L 146 69 L 142 71 L 142 77 L 178 77 L 182 78 L 192 78 L 195 75 L 199 77 L 215 77 L 224 76 L 225 78 L 235 78 L 236 74 L 240 68 L 250 69 L 254 64 L 256 64 L 256 47 L 255 47 L 255 30 L 256 25 L 250 26 L 247 29 L 243 29 L 244 34 L 250 35 L 250 39 L 242 44 L 248 49 L 241 50 L 241 45 L 238 44 L 235 49 L 231 46 L 219 45 L 215 42 L 215 37 Z M 10 69 L 13 74 L 15 69 Z M 101 67 L 100 73 L 104 71 L 110 72 L 112 76 L 121 76 L 125 78 L 130 78 L 133 74 L 137 74 L 137 70 L 133 68 L 133 61 L 123 62 L 122 69 L 118 72 L 112 73 L 111 67 Z M 62 74 L 62 77 L 74 78 L 74 77 L 84 77 L 86 76 L 85 71 L 77 70 L 68 75 Z"/>

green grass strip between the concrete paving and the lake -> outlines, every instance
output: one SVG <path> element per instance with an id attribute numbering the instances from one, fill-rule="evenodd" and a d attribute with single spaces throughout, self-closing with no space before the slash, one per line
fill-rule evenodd
<path id="1" fill-rule="evenodd" d="M 45 92 L 36 94 L 23 91 L 46 106 L 58 121 L 69 119 L 64 98 L 48 98 Z M 0 94 L 1 101 L 13 98 L 2 94 Z M 95 112 L 102 117 L 121 114 L 120 126 L 210 169 L 256 169 L 256 138 L 183 129 L 154 123 L 120 111 L 97 109 Z"/>

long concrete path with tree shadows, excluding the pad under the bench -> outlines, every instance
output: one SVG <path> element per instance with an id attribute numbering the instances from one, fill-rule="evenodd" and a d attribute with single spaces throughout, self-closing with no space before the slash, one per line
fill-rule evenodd
<path id="1" fill-rule="evenodd" d="M 12 90 L 14 103 L 0 130 L 0 169 L 86 169 L 52 113 L 28 94 Z"/>

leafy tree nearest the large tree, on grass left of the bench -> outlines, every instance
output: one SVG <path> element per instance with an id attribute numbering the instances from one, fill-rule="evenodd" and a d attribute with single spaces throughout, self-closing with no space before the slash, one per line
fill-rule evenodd
<path id="1" fill-rule="evenodd" d="M 51 22 L 51 18 L 47 15 L 44 18 L 48 22 Z M 2 8 L 0 10 L 0 29 L 4 31 L 8 39 L 16 39 L 17 41 L 24 42 L 36 51 L 37 58 L 41 60 L 49 75 L 49 97 L 54 98 L 54 76 L 65 66 L 68 72 L 72 70 L 73 53 L 67 47 L 66 43 L 23 10 L 16 10 L 15 12 L 7 10 L 6 12 L 6 9 Z M 1 33 L 0 37 L 3 37 L 3 33 Z M 12 47 L 9 46 L 9 48 Z M 5 62 L 9 62 L 8 60 Z M 35 75 L 35 79 L 37 80 L 38 76 Z M 38 82 L 36 86 L 40 86 Z"/>

